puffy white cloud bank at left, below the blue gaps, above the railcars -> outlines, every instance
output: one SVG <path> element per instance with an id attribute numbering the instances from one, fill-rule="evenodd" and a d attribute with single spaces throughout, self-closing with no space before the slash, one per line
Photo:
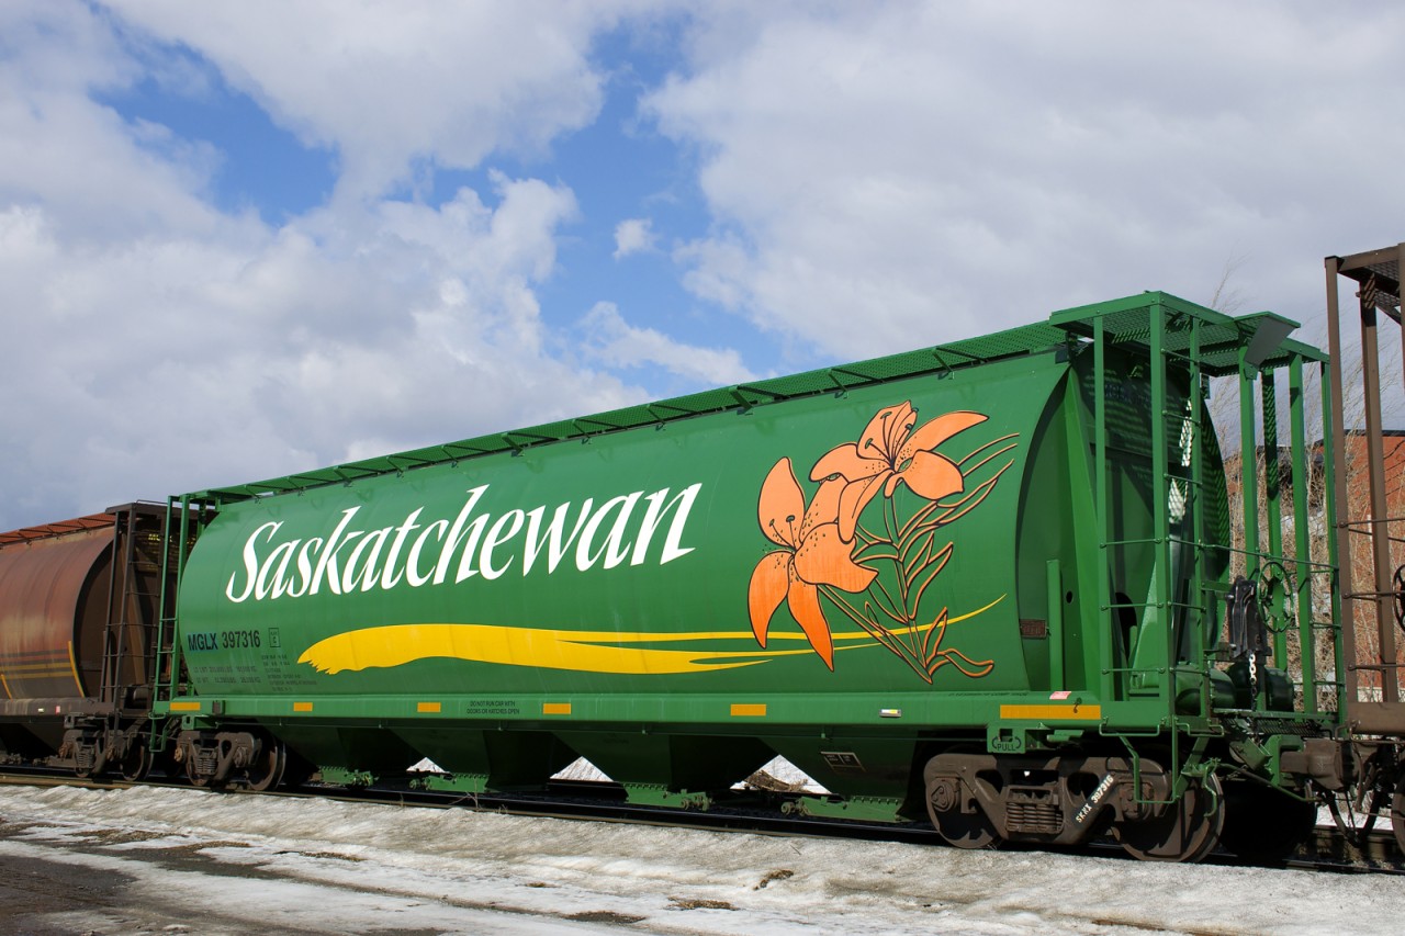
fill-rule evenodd
<path id="1" fill-rule="evenodd" d="M 569 193 L 504 181 L 500 197 L 315 215 L 253 250 L 176 233 L 80 247 L 39 208 L 0 214 L 0 339 L 22 349 L 3 382 L 41 402 L 0 412 L 24 440 L 3 513 L 38 521 L 636 402 L 542 350 L 532 290 Z"/>

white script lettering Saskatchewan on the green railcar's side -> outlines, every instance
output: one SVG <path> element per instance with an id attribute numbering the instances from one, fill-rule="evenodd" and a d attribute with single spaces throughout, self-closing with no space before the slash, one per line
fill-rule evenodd
<path id="1" fill-rule="evenodd" d="M 361 507 L 341 512 L 326 535 L 280 540 L 281 520 L 257 527 L 244 541 L 243 569 L 229 576 L 225 594 L 230 602 L 302 597 L 323 590 L 333 594 L 443 585 L 452 576 L 462 582 L 475 575 L 486 580 L 502 578 L 514 568 L 518 575 L 545 568 L 551 575 L 568 561 L 586 572 L 613 569 L 629 561 L 659 565 L 693 552 L 683 545 L 683 528 L 701 483 L 679 490 L 634 493 L 596 505 L 566 502 L 548 516 L 547 507 L 513 509 L 495 517 L 478 512 L 489 485 L 471 488 L 464 507 L 450 520 L 426 520 L 424 507 L 412 510 L 399 524 L 357 530 Z M 662 544 L 656 534 L 667 523 Z M 652 551 L 652 552 L 651 552 Z"/>

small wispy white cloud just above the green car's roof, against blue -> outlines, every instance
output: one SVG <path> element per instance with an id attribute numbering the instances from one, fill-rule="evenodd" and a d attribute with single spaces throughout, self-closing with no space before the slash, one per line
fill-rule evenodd
<path id="1" fill-rule="evenodd" d="M 697 347 L 670 339 L 655 329 L 634 327 L 613 302 L 599 302 L 582 319 L 589 334 L 583 354 L 611 368 L 656 364 L 710 386 L 728 386 L 756 379 L 732 349 Z"/>

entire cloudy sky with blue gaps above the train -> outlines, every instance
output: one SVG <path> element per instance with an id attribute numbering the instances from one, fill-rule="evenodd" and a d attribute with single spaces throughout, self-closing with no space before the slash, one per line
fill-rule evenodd
<path id="1" fill-rule="evenodd" d="M 1402 38 L 1387 1 L 6 0 L 0 530 L 1142 290 L 1319 319 L 1325 254 L 1405 238 Z"/>

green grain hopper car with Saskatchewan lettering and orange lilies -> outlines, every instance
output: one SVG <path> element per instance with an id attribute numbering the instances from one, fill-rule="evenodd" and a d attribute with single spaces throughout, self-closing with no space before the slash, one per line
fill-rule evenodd
<path id="1" fill-rule="evenodd" d="M 429 758 L 521 790 L 583 756 L 707 808 L 781 755 L 830 791 L 792 811 L 965 846 L 1295 838 L 1340 675 L 1305 538 L 1325 356 L 1291 327 L 1148 292 L 174 499 L 155 717 L 195 783 Z M 1273 489 L 1231 490 L 1259 431 Z"/>

